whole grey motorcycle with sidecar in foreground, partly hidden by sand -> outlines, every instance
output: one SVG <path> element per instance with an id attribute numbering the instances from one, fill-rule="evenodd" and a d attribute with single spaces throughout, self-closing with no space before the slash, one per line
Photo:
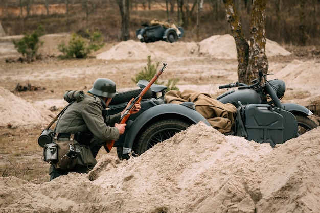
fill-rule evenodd
<path id="1" fill-rule="evenodd" d="M 275 147 L 276 144 L 282 144 L 316 128 L 317 124 L 308 117 L 313 114 L 309 109 L 294 103 L 282 104 L 280 99 L 285 92 L 284 81 L 267 81 L 267 75 L 270 74 L 259 72 L 259 78 L 254 80 L 253 85 L 236 82 L 219 86 L 220 89 L 238 89 L 221 94 L 217 100 L 224 104 L 232 103 L 238 108 L 234 135 Z M 262 80 L 265 81 L 264 84 Z M 138 96 L 148 83 L 140 80 L 137 83 L 140 89 L 117 93 L 106 113 L 123 111 L 132 97 Z M 115 142 L 119 159 L 141 155 L 155 144 L 200 121 L 211 126 L 195 110 L 194 103 L 166 103 L 166 89 L 164 85 L 153 84 L 142 97 L 141 110 L 130 116 L 125 133 Z"/>

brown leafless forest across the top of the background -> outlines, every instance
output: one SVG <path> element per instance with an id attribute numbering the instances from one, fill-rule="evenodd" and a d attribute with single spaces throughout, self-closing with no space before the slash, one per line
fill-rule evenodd
<path id="1" fill-rule="evenodd" d="M 185 28 L 181 41 L 201 41 L 212 35 L 230 33 L 222 0 L 164 0 L 129 2 L 129 32 L 121 36 L 119 4 L 113 0 L 2 0 L 0 18 L 5 34 L 31 32 L 40 23 L 46 34 L 99 28 L 105 42 L 138 40 L 135 30 L 154 18 L 172 19 Z M 235 0 L 235 7 L 248 38 L 252 1 Z M 282 45 L 317 45 L 319 43 L 319 0 L 269 0 L 266 3 L 266 37 Z"/>

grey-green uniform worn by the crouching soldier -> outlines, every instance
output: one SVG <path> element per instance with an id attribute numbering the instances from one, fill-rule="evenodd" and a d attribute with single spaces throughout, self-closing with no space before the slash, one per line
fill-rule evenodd
<path id="1" fill-rule="evenodd" d="M 121 113 L 105 116 L 104 118 L 105 108 L 105 102 L 101 97 L 86 94 L 81 101 L 74 101 L 67 107 L 57 122 L 55 132 L 92 133 L 93 137 L 87 138 L 87 141 L 82 141 L 82 143 L 87 144 L 93 156 L 96 157 L 106 140 L 118 140 L 119 138 L 119 130 L 113 126 L 119 121 Z M 68 140 L 68 138 L 59 138 L 58 136 L 58 140 L 64 141 Z M 50 180 L 68 172 L 86 173 L 92 168 L 76 164 L 71 170 L 64 171 L 55 168 L 52 164 L 49 171 Z"/>

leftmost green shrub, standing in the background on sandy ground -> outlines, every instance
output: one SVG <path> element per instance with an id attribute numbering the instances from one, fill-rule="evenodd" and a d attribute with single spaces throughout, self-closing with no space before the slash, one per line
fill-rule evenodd
<path id="1" fill-rule="evenodd" d="M 26 59 L 28 63 L 35 61 L 37 51 L 40 46 L 43 45 L 43 41 L 40 41 L 40 37 L 44 35 L 44 28 L 42 25 L 38 25 L 38 29 L 34 30 L 31 34 L 24 32 L 24 37 L 21 40 L 13 40 L 14 47 L 22 57 Z"/>

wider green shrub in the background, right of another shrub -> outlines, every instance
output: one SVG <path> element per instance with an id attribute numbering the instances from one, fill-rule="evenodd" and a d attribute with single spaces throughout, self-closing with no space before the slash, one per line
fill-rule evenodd
<path id="1" fill-rule="evenodd" d="M 62 52 L 61 59 L 87 58 L 92 51 L 97 51 L 104 46 L 104 36 L 99 29 L 91 32 L 86 30 L 88 39 L 76 33 L 72 33 L 68 46 L 65 43 L 58 45 L 58 50 Z"/>

